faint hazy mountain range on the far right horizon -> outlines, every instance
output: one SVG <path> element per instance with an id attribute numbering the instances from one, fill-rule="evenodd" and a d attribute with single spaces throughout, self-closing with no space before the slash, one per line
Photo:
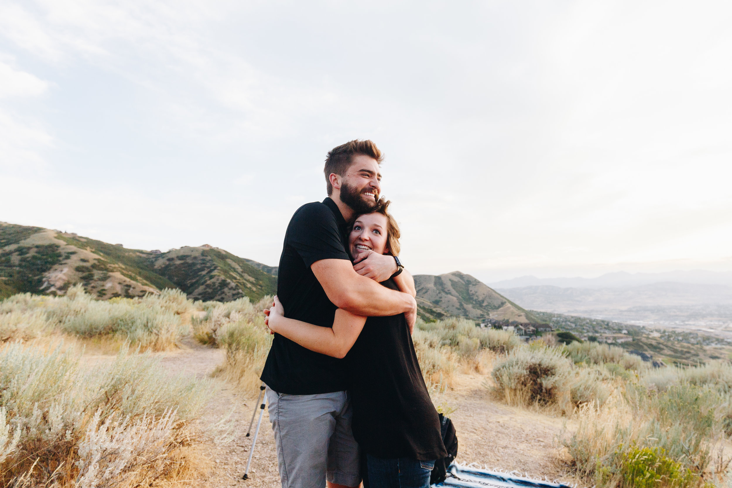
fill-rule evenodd
<path id="1" fill-rule="evenodd" d="M 537 278 L 524 276 L 489 283 L 491 288 L 522 288 L 526 286 L 559 286 L 561 288 L 621 288 L 629 286 L 651 285 L 659 282 L 678 282 L 698 285 L 732 286 L 732 271 L 668 271 L 665 273 L 627 273 L 618 271 L 606 273 L 597 278 Z"/>

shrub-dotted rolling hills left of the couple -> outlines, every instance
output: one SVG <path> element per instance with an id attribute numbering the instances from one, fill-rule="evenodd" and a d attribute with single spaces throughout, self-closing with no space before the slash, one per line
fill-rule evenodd
<path id="1" fill-rule="evenodd" d="M 63 295 L 70 285 L 83 283 L 98 299 L 180 288 L 193 299 L 258 300 L 277 288 L 277 277 L 268 269 L 211 246 L 160 253 L 0 222 L 0 298 L 25 292 Z"/>

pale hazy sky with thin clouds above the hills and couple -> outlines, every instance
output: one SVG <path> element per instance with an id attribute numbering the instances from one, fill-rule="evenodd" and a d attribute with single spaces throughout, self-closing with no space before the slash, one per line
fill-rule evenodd
<path id="1" fill-rule="evenodd" d="M 354 138 L 415 273 L 732 269 L 732 4 L 0 1 L 0 220 L 276 265 Z"/>

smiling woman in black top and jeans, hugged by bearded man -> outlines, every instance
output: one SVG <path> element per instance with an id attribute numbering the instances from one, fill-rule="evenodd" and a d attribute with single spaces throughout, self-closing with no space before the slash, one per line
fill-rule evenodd
<path id="1" fill-rule="evenodd" d="M 399 227 L 388 201 L 356 217 L 348 247 L 361 252 L 398 255 Z M 382 285 L 414 296 L 414 279 L 406 271 Z M 366 488 L 425 488 L 436 459 L 447 456 L 438 413 L 427 393 L 404 314 L 361 317 L 335 312 L 333 327 L 285 318 L 275 297 L 269 329 L 315 352 L 346 358 L 353 405 L 352 429 L 365 455 Z"/>

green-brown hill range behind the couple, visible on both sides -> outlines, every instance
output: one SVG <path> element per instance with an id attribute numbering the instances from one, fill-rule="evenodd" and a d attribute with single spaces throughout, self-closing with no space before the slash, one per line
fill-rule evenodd
<path id="1" fill-rule="evenodd" d="M 420 274 L 414 280 L 425 320 L 460 316 L 538 322 L 469 274 Z M 63 295 L 76 283 L 102 300 L 179 288 L 194 300 L 248 296 L 256 301 L 276 293 L 277 267 L 208 244 L 168 252 L 126 249 L 75 233 L 0 222 L 0 299 L 26 292 Z"/>

